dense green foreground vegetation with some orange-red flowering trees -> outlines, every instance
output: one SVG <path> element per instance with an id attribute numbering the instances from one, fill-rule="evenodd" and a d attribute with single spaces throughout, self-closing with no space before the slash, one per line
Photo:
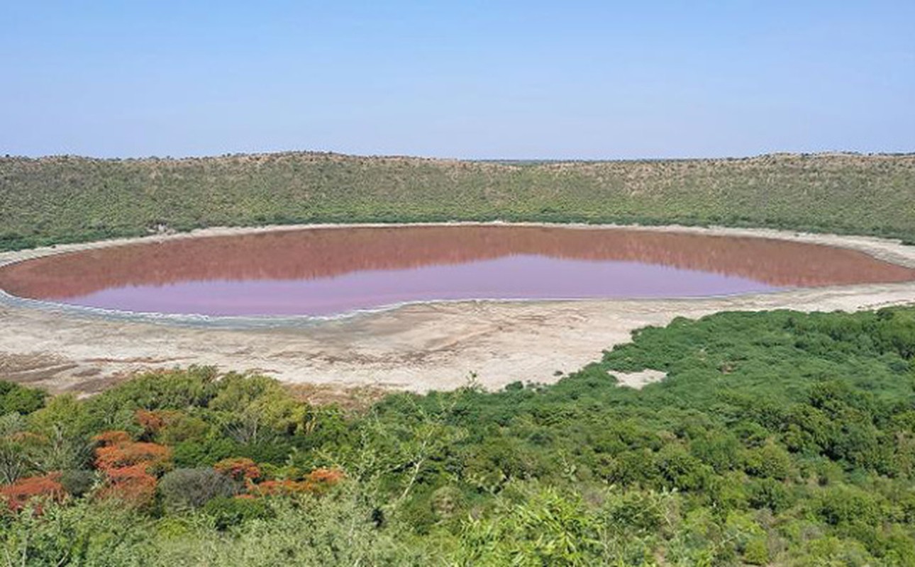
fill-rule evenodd
<path id="1" fill-rule="evenodd" d="M 5 384 L 0 562 L 915 565 L 913 387 L 915 308 L 677 319 L 364 412 L 211 369 Z"/>

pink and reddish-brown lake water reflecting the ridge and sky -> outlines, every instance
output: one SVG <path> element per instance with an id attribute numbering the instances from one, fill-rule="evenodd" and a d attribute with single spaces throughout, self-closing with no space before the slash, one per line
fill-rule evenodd
<path id="1" fill-rule="evenodd" d="M 888 283 L 915 271 L 798 242 L 639 230 L 452 226 L 285 230 L 21 262 L 0 288 L 163 313 L 321 315 L 403 301 L 651 297 Z"/>

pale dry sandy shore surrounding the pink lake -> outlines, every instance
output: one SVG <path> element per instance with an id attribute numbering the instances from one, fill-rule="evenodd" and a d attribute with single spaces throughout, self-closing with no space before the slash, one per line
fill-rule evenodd
<path id="1" fill-rule="evenodd" d="M 142 240 L 302 228 L 306 227 L 208 229 Z M 865 251 L 915 267 L 915 247 L 897 241 L 776 230 L 640 229 L 812 242 Z M 5 252 L 0 253 L 0 265 L 129 241 Z M 448 390 L 466 384 L 471 374 L 484 387 L 498 389 L 514 380 L 558 380 L 557 370 L 579 369 L 600 358 L 602 350 L 628 341 L 633 329 L 665 325 L 674 316 L 780 308 L 853 311 L 910 303 L 915 303 L 915 282 L 701 299 L 404 305 L 316 325 L 271 327 L 118 319 L 72 309 L 34 308 L 0 296 L 0 379 L 56 392 L 86 393 L 141 369 L 206 364 L 225 370 L 253 369 L 287 382 L 341 389 L 369 385 Z M 649 372 L 623 378 L 638 387 L 661 376 Z"/>

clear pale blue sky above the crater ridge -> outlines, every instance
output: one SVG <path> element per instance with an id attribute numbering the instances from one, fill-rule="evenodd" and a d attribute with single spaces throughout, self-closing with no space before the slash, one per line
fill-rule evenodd
<path id="1" fill-rule="evenodd" d="M 0 0 L 0 154 L 915 151 L 915 1 Z"/>

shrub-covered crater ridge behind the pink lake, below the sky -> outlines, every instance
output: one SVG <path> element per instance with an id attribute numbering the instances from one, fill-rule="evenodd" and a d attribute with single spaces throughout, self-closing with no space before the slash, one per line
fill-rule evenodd
<path id="1" fill-rule="evenodd" d="M 0 250 L 138 236 L 163 225 L 455 219 L 724 224 L 915 240 L 915 155 L 0 158 Z"/>

